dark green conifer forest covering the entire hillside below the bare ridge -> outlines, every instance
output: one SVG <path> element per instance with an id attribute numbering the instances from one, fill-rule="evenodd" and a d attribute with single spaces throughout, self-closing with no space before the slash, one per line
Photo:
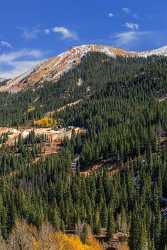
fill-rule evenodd
<path id="1" fill-rule="evenodd" d="M 90 226 L 97 238 L 102 230 L 107 240 L 126 234 L 131 250 L 166 250 L 166 97 L 167 58 L 99 53 L 88 54 L 57 83 L 0 93 L 1 126 L 29 126 L 48 115 L 61 126 L 87 131 L 35 164 L 45 136 L 32 133 L 12 147 L 1 138 L 4 240 L 20 219 L 38 229 L 49 221 L 55 231 L 76 232 L 83 243 Z M 98 171 L 83 175 L 102 161 L 107 163 Z"/>

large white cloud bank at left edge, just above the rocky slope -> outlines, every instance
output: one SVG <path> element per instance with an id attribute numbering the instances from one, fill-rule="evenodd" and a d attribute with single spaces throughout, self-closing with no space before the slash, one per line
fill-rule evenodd
<path id="1" fill-rule="evenodd" d="M 0 78 L 13 78 L 37 65 L 44 54 L 40 50 L 20 50 L 0 54 Z"/>

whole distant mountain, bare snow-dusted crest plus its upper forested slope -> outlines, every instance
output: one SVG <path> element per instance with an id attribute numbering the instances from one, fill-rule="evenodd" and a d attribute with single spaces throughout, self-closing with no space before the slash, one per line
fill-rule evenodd
<path id="1" fill-rule="evenodd" d="M 158 53 L 165 55 L 164 51 L 161 48 Z M 157 51 L 149 55 L 154 53 Z M 73 48 L 0 86 L 0 124 L 16 126 L 38 120 L 48 113 L 64 109 L 64 106 L 82 104 L 110 84 L 115 92 L 126 81 L 133 85 L 144 79 L 152 84 L 150 91 L 154 96 L 164 100 L 167 93 L 164 86 L 166 59 L 165 56 L 148 56 L 148 52 L 126 52 L 107 46 Z M 161 65 L 158 70 L 157 64 Z M 160 82 L 160 76 L 163 87 L 154 83 Z M 147 88 L 148 83 L 145 85 Z M 147 88 L 148 97 L 150 92 Z"/>

